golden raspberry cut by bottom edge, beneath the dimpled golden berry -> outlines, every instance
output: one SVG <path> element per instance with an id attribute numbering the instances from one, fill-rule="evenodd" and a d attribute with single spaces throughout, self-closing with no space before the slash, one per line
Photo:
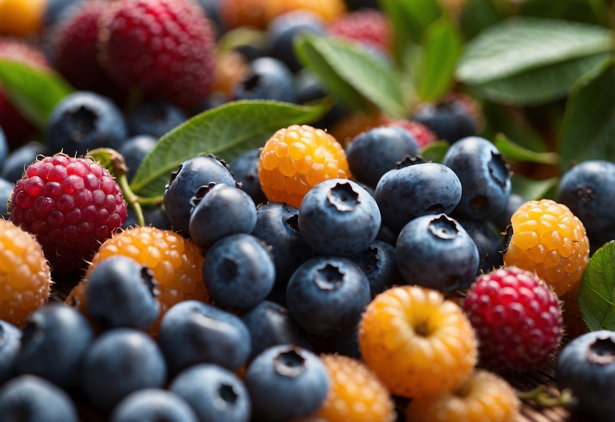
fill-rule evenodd
<path id="1" fill-rule="evenodd" d="M 412 400 L 406 418 L 412 422 L 515 422 L 519 399 L 494 373 L 477 370 L 453 391 Z"/>

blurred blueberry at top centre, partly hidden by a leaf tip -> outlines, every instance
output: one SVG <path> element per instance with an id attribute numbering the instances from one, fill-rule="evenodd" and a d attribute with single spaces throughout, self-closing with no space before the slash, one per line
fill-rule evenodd
<path id="1" fill-rule="evenodd" d="M 324 34 L 325 22 L 319 15 L 308 10 L 294 10 L 274 18 L 269 23 L 267 33 L 271 56 L 279 58 L 290 70 L 296 72 L 303 66 L 295 57 L 293 39 L 304 33 Z"/>

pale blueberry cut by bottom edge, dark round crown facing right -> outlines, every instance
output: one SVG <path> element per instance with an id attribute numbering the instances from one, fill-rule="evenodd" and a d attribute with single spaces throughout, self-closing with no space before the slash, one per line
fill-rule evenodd
<path id="1" fill-rule="evenodd" d="M 247 422 L 252 406 L 244 383 L 228 369 L 194 365 L 181 372 L 169 390 L 186 400 L 199 422 Z"/>

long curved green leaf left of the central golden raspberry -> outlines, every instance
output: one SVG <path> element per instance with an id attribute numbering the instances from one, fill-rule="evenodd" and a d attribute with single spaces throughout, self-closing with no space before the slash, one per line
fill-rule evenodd
<path id="1" fill-rule="evenodd" d="M 329 103 L 298 106 L 273 101 L 239 101 L 205 111 L 166 133 L 143 159 L 130 189 L 142 197 L 160 196 L 170 173 L 199 154 L 231 161 L 263 146 L 276 130 L 318 119 Z"/>

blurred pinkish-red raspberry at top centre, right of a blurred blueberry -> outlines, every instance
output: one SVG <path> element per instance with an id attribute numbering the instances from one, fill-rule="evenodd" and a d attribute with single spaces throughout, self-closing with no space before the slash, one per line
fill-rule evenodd
<path id="1" fill-rule="evenodd" d="M 376 47 L 383 52 L 391 47 L 391 25 L 386 16 L 375 9 L 363 9 L 341 15 L 331 22 L 328 33 L 338 38 Z"/>

